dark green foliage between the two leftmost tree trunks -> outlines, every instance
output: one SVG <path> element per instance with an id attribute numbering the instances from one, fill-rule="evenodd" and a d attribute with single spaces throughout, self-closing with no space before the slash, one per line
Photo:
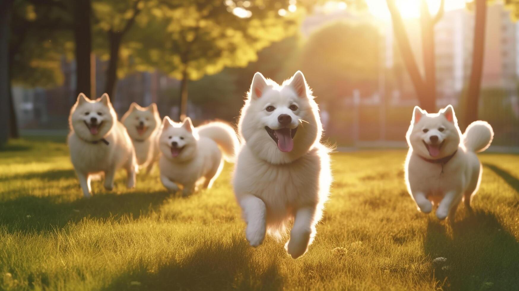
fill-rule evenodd
<path id="1" fill-rule="evenodd" d="M 13 84 L 51 87 L 63 82 L 63 57 L 74 48 L 65 9 L 45 2 L 15 1 L 9 44 Z"/>

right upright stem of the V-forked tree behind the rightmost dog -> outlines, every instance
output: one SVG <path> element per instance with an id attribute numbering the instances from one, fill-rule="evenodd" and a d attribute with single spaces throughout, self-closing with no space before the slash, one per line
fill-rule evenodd
<path id="1" fill-rule="evenodd" d="M 425 0 L 421 0 L 420 28 L 425 69 L 425 94 L 423 104 L 428 112 L 436 111 L 436 64 L 434 54 L 434 23 Z M 424 108 L 424 109 L 425 109 Z"/>

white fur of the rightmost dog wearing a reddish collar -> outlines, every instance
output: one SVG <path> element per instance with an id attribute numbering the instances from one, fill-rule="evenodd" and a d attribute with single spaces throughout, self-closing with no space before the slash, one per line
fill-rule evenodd
<path id="1" fill-rule="evenodd" d="M 435 157 L 427 149 L 433 143 L 431 136 L 438 137 L 436 144 L 443 143 Z M 487 149 L 493 136 L 492 127 L 484 121 L 473 122 L 462 135 L 452 105 L 434 114 L 415 107 L 406 135 L 409 151 L 405 161 L 405 181 L 418 209 L 430 213 L 433 204 L 438 204 L 436 217 L 445 219 L 449 216 L 451 220 L 454 220 L 461 200 L 470 209 L 483 170 L 475 153 Z M 451 155 L 452 158 L 443 166 L 427 161 Z"/>

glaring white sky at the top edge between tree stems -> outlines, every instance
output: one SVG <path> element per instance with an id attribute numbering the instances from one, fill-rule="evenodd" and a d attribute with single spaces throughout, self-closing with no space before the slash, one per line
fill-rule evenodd
<path id="1" fill-rule="evenodd" d="M 365 0 L 371 14 L 381 19 L 391 19 L 386 0 Z M 395 0 L 403 18 L 420 17 L 419 0 Z M 465 8 L 466 0 L 445 0 L 445 10 Z M 427 0 L 429 11 L 435 14 L 440 8 L 441 0 Z"/>

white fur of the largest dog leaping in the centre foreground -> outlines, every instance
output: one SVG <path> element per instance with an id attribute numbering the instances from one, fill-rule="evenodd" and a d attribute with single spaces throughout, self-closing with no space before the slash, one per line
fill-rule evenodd
<path id="1" fill-rule="evenodd" d="M 297 109 L 292 110 L 295 104 Z M 275 107 L 268 112 L 267 107 Z M 296 128 L 294 146 L 282 152 L 265 126 L 281 128 L 278 116 L 288 114 Z M 303 73 L 297 71 L 281 86 L 256 73 L 241 110 L 239 133 L 243 146 L 234 172 L 234 191 L 247 222 L 245 236 L 260 245 L 266 231 L 278 239 L 294 219 L 287 252 L 306 253 L 322 216 L 332 175 L 330 150 L 321 144 L 322 125 Z"/>

